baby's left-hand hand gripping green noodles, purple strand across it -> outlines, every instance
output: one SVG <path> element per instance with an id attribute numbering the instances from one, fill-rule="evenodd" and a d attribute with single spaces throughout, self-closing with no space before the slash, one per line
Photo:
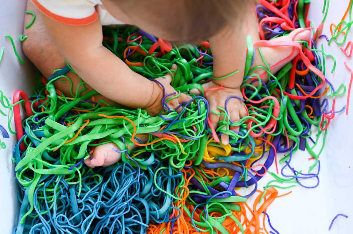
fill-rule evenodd
<path id="1" fill-rule="evenodd" d="M 177 71 L 178 67 L 174 64 L 171 69 Z M 173 74 L 175 75 L 175 73 Z M 165 100 L 168 100 L 170 97 L 176 96 L 178 94 L 178 91 L 175 91 L 175 89 L 170 86 L 170 83 L 172 82 L 172 75 L 167 74 L 163 77 L 158 77 L 155 80 L 160 82 L 164 86 L 166 95 L 175 93 L 173 95 L 167 96 Z M 157 82 L 152 82 L 154 87 L 152 97 L 147 107 L 144 107 L 143 109 L 145 109 L 149 115 L 156 116 L 162 110 L 163 88 Z M 188 102 L 190 100 L 191 97 L 189 95 L 181 93 L 179 97 L 168 101 L 167 105 L 170 109 L 175 109 L 180 106 L 182 102 Z M 179 107 L 178 109 L 176 109 L 176 111 L 180 112 L 182 109 L 182 107 Z"/>

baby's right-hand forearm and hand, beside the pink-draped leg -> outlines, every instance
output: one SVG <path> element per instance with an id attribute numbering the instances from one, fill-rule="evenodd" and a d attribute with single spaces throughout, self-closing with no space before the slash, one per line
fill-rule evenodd
<path id="1" fill-rule="evenodd" d="M 219 88 L 207 93 L 207 100 L 210 107 L 209 118 L 211 125 L 215 129 L 219 121 L 222 121 L 224 118 L 224 115 L 217 115 L 222 113 L 218 107 L 226 109 L 225 103 L 230 96 L 243 98 L 240 86 L 244 78 L 247 33 L 249 33 L 253 39 L 259 40 L 256 15 L 249 14 L 245 17 L 244 14 L 244 17 L 239 18 L 244 18 L 245 23 L 239 23 L 236 28 L 230 28 L 231 26 L 228 26 L 209 39 L 213 55 L 213 77 L 223 77 L 235 71 L 239 71 L 227 78 L 220 80 L 213 79 L 203 85 L 204 90 Z M 249 21 L 250 24 L 248 32 L 246 21 Z M 227 110 L 230 120 L 235 123 L 239 122 L 241 118 L 247 115 L 243 101 L 235 97 L 228 100 Z M 239 131 L 239 127 L 233 130 Z M 222 132 L 222 130 L 220 131 Z M 228 140 L 227 134 L 221 135 L 223 144 L 228 144 Z"/>

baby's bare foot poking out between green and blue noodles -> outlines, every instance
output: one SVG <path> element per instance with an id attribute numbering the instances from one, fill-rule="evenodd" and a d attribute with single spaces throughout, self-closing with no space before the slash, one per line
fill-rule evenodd
<path id="1" fill-rule="evenodd" d="M 142 142 L 145 142 L 147 138 L 139 138 Z M 101 141 L 102 142 L 102 141 Z M 132 150 L 136 148 L 137 145 L 130 146 L 129 149 Z M 103 145 L 98 145 L 95 147 L 90 158 L 84 160 L 84 163 L 91 168 L 96 166 L 110 166 L 117 163 L 121 159 L 121 153 L 114 151 L 113 149 L 120 151 L 119 147 L 113 142 L 109 142 Z"/>

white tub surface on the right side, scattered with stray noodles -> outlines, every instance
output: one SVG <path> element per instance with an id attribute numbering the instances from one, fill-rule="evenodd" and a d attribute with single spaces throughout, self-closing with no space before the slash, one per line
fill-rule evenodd
<path id="1" fill-rule="evenodd" d="M 311 0 L 309 11 L 309 19 L 312 21 L 315 28 L 323 19 L 322 8 L 323 0 Z M 329 12 L 324 24 L 323 34 L 330 38 L 330 24 L 338 24 L 343 17 L 348 6 L 349 0 L 334 0 L 330 1 Z M 348 21 L 348 16 L 347 16 Z M 341 42 L 342 38 L 339 39 Z M 348 34 L 347 42 L 353 40 L 353 30 Z M 350 73 L 345 68 L 343 62 L 347 62 L 348 66 L 353 69 L 353 58 L 348 59 L 340 50 L 341 46 L 337 46 L 334 42 L 330 47 L 327 46 L 327 41 L 321 38 L 317 42 L 317 47 L 321 48 L 324 45 L 325 52 L 335 56 L 337 60 L 336 70 L 334 74 L 330 74 L 333 66 L 331 58 L 326 59 L 327 69 L 326 77 L 337 89 L 341 83 L 346 83 L 347 91 L 350 80 Z M 343 49 L 345 48 L 344 45 Z M 352 91 L 353 92 L 353 91 Z M 351 100 L 353 95 L 351 94 Z M 329 98 L 328 110 L 331 110 L 333 98 Z M 336 97 L 336 110 L 340 110 L 346 105 L 347 96 Z M 295 187 L 288 190 L 280 190 L 279 194 L 283 194 L 292 190 L 292 194 L 277 198 L 268 208 L 268 214 L 271 218 L 271 223 L 281 234 L 348 234 L 353 233 L 353 104 L 349 109 L 349 115 L 345 112 L 336 115 L 328 127 L 328 135 L 326 139 L 325 149 L 320 156 L 321 171 L 319 174 L 320 184 L 315 189 L 305 189 Z M 314 149 L 316 153 L 319 147 Z M 307 159 L 311 157 L 307 152 L 297 151 L 293 154 L 292 166 L 296 170 L 303 169 L 303 173 L 307 173 L 307 168 L 312 164 L 312 161 Z M 281 158 L 281 157 L 279 157 Z M 283 164 L 281 165 L 281 167 Z M 270 167 L 270 171 L 275 172 L 275 166 Z M 317 169 L 313 172 L 316 173 Z M 287 170 L 286 174 L 289 174 Z M 259 185 L 264 186 L 272 177 L 266 175 L 264 180 L 261 180 Z M 305 185 L 315 185 L 316 179 L 312 181 L 305 180 Z M 285 185 L 286 186 L 286 185 Z M 252 202 L 249 202 L 252 204 Z M 252 206 L 251 206 L 252 207 Z M 338 217 L 331 230 L 328 231 L 331 220 L 337 214 L 342 213 L 348 216 Z"/>

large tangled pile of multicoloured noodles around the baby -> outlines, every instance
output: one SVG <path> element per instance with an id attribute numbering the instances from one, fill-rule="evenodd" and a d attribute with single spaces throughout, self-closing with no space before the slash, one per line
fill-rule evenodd
<path id="1" fill-rule="evenodd" d="M 310 27 L 305 14 L 308 2 L 262 0 L 262 5 L 256 7 L 262 39 Z M 352 6 L 349 9 L 351 15 Z M 133 71 L 154 79 L 172 74 L 170 68 L 176 64 L 178 70 L 172 81 L 175 90 L 188 93 L 197 88 L 202 95 L 192 95 L 193 99 L 183 103 L 183 110 L 177 113 L 165 105 L 170 98 L 165 94 L 161 103 L 165 112 L 151 117 L 145 110 L 95 102 L 96 91 L 82 93 L 83 81 L 76 92 L 71 90 L 71 96 L 65 96 L 53 82 L 71 82 L 67 76 L 57 75 L 50 81 L 42 78 L 30 101 L 25 100 L 25 94 L 20 95 L 29 117 L 22 126 L 16 125 L 16 129 L 23 128 L 24 134 L 17 131 L 22 137 L 13 156 L 22 203 L 14 233 L 268 233 L 266 209 L 279 197 L 274 187 L 318 185 L 318 157 L 323 146 L 319 153 L 313 148 L 320 134 L 323 132 L 325 138 L 327 133 L 329 121 L 323 116 L 330 120 L 335 113 L 334 107 L 328 112 L 327 99 L 321 103 L 319 97 L 343 95 L 346 89 L 344 86 L 341 93 L 341 88 L 334 90 L 324 77 L 324 59 L 334 57 L 316 48 L 320 33 L 313 31 L 312 40 L 301 42 L 304 49 L 300 55 L 277 74 L 271 74 L 268 65 L 250 70 L 254 56 L 263 58 L 260 46 L 273 44 L 253 43 L 248 37 L 244 81 L 251 82 L 243 83 L 243 97 L 229 99 L 244 98 L 249 115 L 233 123 L 224 109 L 222 115 L 227 118 L 212 129 L 204 98 L 207 90 L 201 86 L 213 77 L 213 58 L 207 42 L 175 47 L 134 26 L 104 27 L 104 46 Z M 298 42 L 286 45 L 300 46 Z M 259 54 L 255 55 L 257 47 Z M 263 74 L 252 73 L 257 68 L 269 74 L 267 83 L 260 79 Z M 259 81 L 257 87 L 255 81 Z M 330 87 L 323 91 L 325 82 Z M 4 98 L 2 105 L 10 107 Z M 240 130 L 235 131 L 238 126 Z M 316 139 L 312 139 L 313 126 L 319 131 Z M 219 143 L 221 133 L 229 134 L 228 145 Z M 143 135 L 148 136 L 146 143 L 137 138 Z M 103 144 L 98 143 L 99 139 L 118 145 L 122 162 L 93 170 L 86 167 L 83 160 L 90 157 L 95 146 Z M 133 144 L 139 147 L 130 151 L 126 145 Z M 315 159 L 308 173 L 290 165 L 298 149 L 306 149 Z M 285 163 L 282 176 L 277 175 L 277 153 L 287 153 L 279 160 Z M 257 163 L 259 160 L 264 163 Z M 274 163 L 277 173 L 268 171 Z M 290 175 L 283 172 L 285 167 L 292 171 Z M 316 172 L 311 172 L 313 169 Z M 267 172 L 274 179 L 262 192 L 257 190 L 257 182 Z M 306 178 L 316 178 L 317 184 L 303 185 Z M 285 183 L 289 186 L 282 186 Z M 235 191 L 250 186 L 246 194 Z M 246 198 L 257 191 L 250 208 Z M 270 233 L 277 232 L 271 223 L 270 227 Z"/>

